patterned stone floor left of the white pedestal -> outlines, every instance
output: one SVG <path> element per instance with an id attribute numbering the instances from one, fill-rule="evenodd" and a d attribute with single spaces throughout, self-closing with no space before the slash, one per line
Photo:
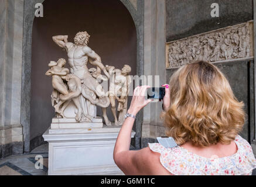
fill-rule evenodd
<path id="1" fill-rule="evenodd" d="M 48 144 L 30 154 L 12 155 L 0 160 L 0 175 L 47 175 Z"/>

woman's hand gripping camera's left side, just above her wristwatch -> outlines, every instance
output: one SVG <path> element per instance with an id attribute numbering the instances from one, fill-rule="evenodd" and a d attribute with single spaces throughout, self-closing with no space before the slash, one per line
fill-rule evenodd
<path id="1" fill-rule="evenodd" d="M 132 96 L 132 102 L 130 108 L 128 109 L 128 113 L 136 116 L 136 114 L 148 105 L 152 99 L 145 99 L 146 89 L 150 88 L 150 86 L 138 86 L 134 89 L 134 96 Z"/>

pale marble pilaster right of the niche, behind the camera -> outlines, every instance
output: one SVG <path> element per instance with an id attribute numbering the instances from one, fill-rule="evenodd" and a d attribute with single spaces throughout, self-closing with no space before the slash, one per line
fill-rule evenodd
<path id="1" fill-rule="evenodd" d="M 150 86 L 165 84 L 165 1 L 144 1 L 144 74 Z M 164 135 L 160 119 L 162 102 L 150 103 L 144 108 L 142 123 L 142 147 Z"/>

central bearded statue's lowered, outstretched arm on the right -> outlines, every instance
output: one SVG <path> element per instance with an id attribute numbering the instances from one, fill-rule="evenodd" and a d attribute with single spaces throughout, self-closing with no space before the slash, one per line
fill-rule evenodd
<path id="1" fill-rule="evenodd" d="M 108 74 L 103 63 L 101 63 L 101 57 L 98 56 L 97 53 L 95 53 L 93 50 L 91 50 L 90 47 L 88 47 L 88 46 L 83 47 L 83 52 L 89 57 L 89 63 L 91 63 L 91 65 L 95 65 L 97 67 L 97 71 L 100 68 L 100 70 L 102 70 L 104 72 L 104 74 L 108 78 L 110 78 L 110 74 Z M 98 71 L 98 73 L 100 74 L 100 71 Z"/>

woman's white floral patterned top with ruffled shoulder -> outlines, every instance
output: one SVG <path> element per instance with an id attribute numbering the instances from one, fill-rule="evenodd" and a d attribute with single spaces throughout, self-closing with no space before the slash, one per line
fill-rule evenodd
<path id="1" fill-rule="evenodd" d="M 251 175 L 256 159 L 250 144 L 239 135 L 235 137 L 237 153 L 228 157 L 206 158 L 183 147 L 165 148 L 149 143 L 149 148 L 160 153 L 160 161 L 171 175 Z"/>

